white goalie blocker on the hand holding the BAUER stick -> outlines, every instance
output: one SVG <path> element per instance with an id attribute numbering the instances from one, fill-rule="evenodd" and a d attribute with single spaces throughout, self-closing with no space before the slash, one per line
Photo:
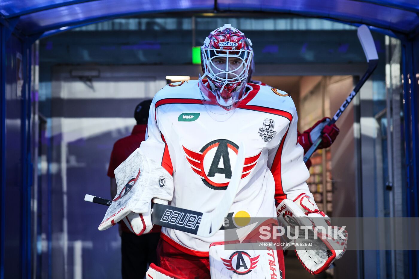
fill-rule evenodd
<path id="1" fill-rule="evenodd" d="M 158 163 L 137 148 L 115 169 L 117 194 L 98 230 L 106 230 L 124 219 L 137 235 L 148 233 L 151 201 L 167 204 L 173 196 L 173 177 Z"/>

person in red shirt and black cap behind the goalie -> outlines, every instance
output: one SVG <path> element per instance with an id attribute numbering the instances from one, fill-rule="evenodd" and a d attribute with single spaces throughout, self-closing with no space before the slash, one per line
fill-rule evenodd
<path id="1" fill-rule="evenodd" d="M 135 107 L 134 118 L 137 125 L 128 137 L 115 142 L 109 161 L 108 176 L 111 178 L 111 197 L 116 196 L 115 168 L 140 147 L 145 140 L 148 113 L 152 100 L 145 100 Z M 121 236 L 122 279 L 143 278 L 147 271 L 147 264 L 157 264 L 156 248 L 160 239 L 160 227 L 154 226 L 150 233 L 137 236 L 132 233 L 124 222 L 119 222 Z"/>

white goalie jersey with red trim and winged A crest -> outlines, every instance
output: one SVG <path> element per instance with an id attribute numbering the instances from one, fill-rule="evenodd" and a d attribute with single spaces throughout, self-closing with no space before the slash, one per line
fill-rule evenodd
<path id="1" fill-rule="evenodd" d="M 246 145 L 246 159 L 232 217 L 243 211 L 275 217 L 283 199 L 310 194 L 292 98 L 268 86 L 248 87 L 238 108 L 227 114 L 206 109 L 197 80 L 166 85 L 155 95 L 140 149 L 173 175 L 172 206 L 214 210 L 231 178 L 239 142 Z M 162 238 L 186 253 L 208 256 L 209 245 L 224 235 L 220 230 L 204 238 L 163 227 Z"/>

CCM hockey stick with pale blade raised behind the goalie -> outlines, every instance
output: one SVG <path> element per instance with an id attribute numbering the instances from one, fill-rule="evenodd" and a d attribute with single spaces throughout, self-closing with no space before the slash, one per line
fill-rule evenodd
<path id="1" fill-rule="evenodd" d="M 326 124 L 331 125 L 336 122 L 336 120 L 339 119 L 339 116 L 344 112 L 344 110 L 347 108 L 349 103 L 352 101 L 352 99 L 357 95 L 358 91 L 361 89 L 362 85 L 364 85 L 365 81 L 370 77 L 372 72 L 374 72 L 375 68 L 378 64 L 378 54 L 377 49 L 375 48 L 374 40 L 372 39 L 370 29 L 363 24 L 360 27 L 358 27 L 358 39 L 360 40 L 360 43 L 362 45 L 362 49 L 364 50 L 365 57 L 367 57 L 368 62 L 368 69 L 365 72 L 365 74 L 362 76 L 360 81 L 355 85 L 354 90 L 349 94 L 348 98 L 345 99 L 345 101 L 342 103 L 336 114 L 333 116 L 333 118 Z M 310 147 L 309 150 L 304 154 L 304 162 L 307 162 L 308 159 L 313 155 L 314 151 L 316 151 L 316 148 L 321 143 L 322 138 L 321 135 L 314 140 L 313 145 Z"/>

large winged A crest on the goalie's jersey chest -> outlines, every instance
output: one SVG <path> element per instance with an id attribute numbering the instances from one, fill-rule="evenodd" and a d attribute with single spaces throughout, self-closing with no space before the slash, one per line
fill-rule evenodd
<path id="1" fill-rule="evenodd" d="M 237 159 L 237 144 L 230 140 L 220 139 L 207 143 L 199 152 L 183 145 L 182 147 L 192 171 L 202 178 L 206 186 L 214 190 L 227 189 Z M 261 152 L 244 160 L 242 179 L 251 173 L 260 155 Z"/>

